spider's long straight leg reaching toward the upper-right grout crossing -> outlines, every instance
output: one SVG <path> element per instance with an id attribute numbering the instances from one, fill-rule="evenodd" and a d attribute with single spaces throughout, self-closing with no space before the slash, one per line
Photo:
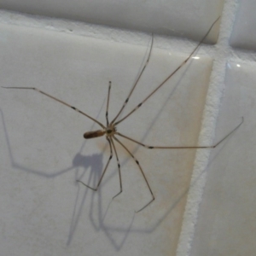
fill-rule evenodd
<path id="1" fill-rule="evenodd" d="M 218 17 L 218 19 L 219 19 L 219 18 L 220 18 L 220 16 Z M 212 26 L 214 26 L 214 24 L 218 21 L 218 19 L 215 20 L 215 21 L 212 23 Z M 130 113 L 127 113 L 127 114 L 125 115 L 125 117 L 123 117 L 122 119 L 119 119 L 119 121 L 117 121 L 114 125 L 118 125 L 120 122 L 124 121 L 128 116 L 130 116 L 131 113 L 134 113 L 138 108 L 140 108 L 140 107 L 143 105 L 144 102 L 146 102 L 151 96 L 153 96 L 154 93 L 155 93 L 157 90 L 159 90 L 162 85 L 166 84 L 166 82 L 167 82 L 169 79 L 171 79 L 172 76 L 173 76 L 175 73 L 177 73 L 177 71 L 178 71 L 181 67 L 183 67 L 183 65 L 185 65 L 185 64 L 187 63 L 187 61 L 189 61 L 189 59 L 191 58 L 191 56 L 194 55 L 196 49 L 198 49 L 199 46 L 201 45 L 201 43 L 205 40 L 205 38 L 207 38 L 207 35 L 208 35 L 209 32 L 212 30 L 212 26 L 211 26 L 211 27 L 209 28 L 209 30 L 207 31 L 207 34 L 201 39 L 200 43 L 197 44 L 197 46 L 195 47 L 195 49 L 194 49 L 194 50 L 190 53 L 190 55 L 186 58 L 186 60 L 183 61 L 183 62 L 180 64 L 180 66 L 177 67 L 161 84 L 159 84 L 152 92 L 150 92 L 149 95 L 143 100 L 143 102 L 140 102 L 140 103 L 137 105 L 136 108 L 133 108 Z"/>

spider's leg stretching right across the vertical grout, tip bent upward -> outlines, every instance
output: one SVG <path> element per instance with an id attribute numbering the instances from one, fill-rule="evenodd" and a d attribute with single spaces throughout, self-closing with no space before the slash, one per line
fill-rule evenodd
<path id="1" fill-rule="evenodd" d="M 131 138 L 131 137 L 127 137 L 127 136 L 125 136 L 125 135 L 119 133 L 118 131 L 117 131 L 115 134 L 119 135 L 120 137 L 125 137 L 125 139 L 127 139 L 127 140 L 129 140 L 129 141 L 131 141 L 131 142 L 133 142 L 133 143 L 137 143 L 137 144 L 143 146 L 144 148 L 149 148 L 149 149 L 153 149 L 153 148 L 162 148 L 162 149 L 170 149 L 170 148 L 171 148 L 171 149 L 185 149 L 185 148 L 216 148 L 216 147 L 217 147 L 220 143 L 222 143 L 227 137 L 230 137 L 230 135 L 231 135 L 234 131 L 236 131 L 242 123 L 243 123 L 243 117 L 241 118 L 241 123 L 240 123 L 239 125 L 237 125 L 237 126 L 235 127 L 235 129 L 233 129 L 232 131 L 230 131 L 225 137 L 223 137 L 220 141 L 218 141 L 218 143 L 216 143 L 216 144 L 214 144 L 214 145 L 212 145 L 212 146 L 184 146 L 184 147 L 148 146 L 148 145 L 146 145 L 146 144 L 143 144 L 143 143 L 138 142 L 137 140 L 134 140 L 134 139 Z"/>

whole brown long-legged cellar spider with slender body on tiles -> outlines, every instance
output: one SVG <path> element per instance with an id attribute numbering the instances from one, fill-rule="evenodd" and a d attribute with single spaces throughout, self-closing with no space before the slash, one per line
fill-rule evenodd
<path id="1" fill-rule="evenodd" d="M 218 17 L 219 19 L 219 17 Z M 215 20 L 212 23 L 212 26 L 214 26 L 214 24 L 218 21 Z M 116 162 L 117 162 L 117 166 L 118 166 L 118 172 L 119 172 L 119 193 L 117 195 L 119 195 L 120 193 L 122 193 L 123 189 L 122 189 L 122 178 L 121 178 L 121 172 L 120 172 L 120 164 L 119 164 L 119 156 L 118 156 L 118 152 L 116 150 L 116 146 L 115 143 L 118 143 L 122 148 L 125 149 L 125 151 L 131 155 L 131 158 L 136 162 L 137 167 L 139 168 L 140 172 L 143 175 L 143 179 L 145 181 L 145 183 L 148 186 L 148 190 L 150 191 L 151 194 L 151 199 L 150 201 L 148 201 L 145 205 L 143 205 L 143 207 L 141 207 L 139 210 L 137 210 L 136 212 L 141 212 L 144 208 L 148 207 L 149 204 L 151 204 L 155 197 L 154 197 L 154 193 L 148 183 L 148 179 L 145 176 L 145 173 L 143 172 L 143 168 L 142 166 L 140 166 L 139 161 L 137 160 L 137 158 L 131 153 L 131 151 L 125 146 L 124 143 L 121 143 L 119 141 L 119 137 L 123 137 L 126 140 L 131 141 L 132 143 L 137 143 L 140 146 L 143 146 L 144 148 L 149 148 L 149 149 L 184 149 L 184 148 L 215 148 L 218 146 L 218 144 L 222 143 L 227 137 L 229 137 L 231 135 L 231 133 L 233 133 L 234 131 L 236 131 L 236 129 L 238 129 L 238 127 L 241 125 L 241 123 L 243 122 L 243 118 L 241 120 L 241 123 L 239 125 L 237 125 L 235 127 L 235 129 L 233 129 L 232 131 L 230 131 L 225 137 L 223 137 L 220 141 L 218 141 L 218 143 L 214 144 L 214 145 L 210 145 L 210 146 L 183 146 L 183 147 L 173 147 L 173 146 L 152 146 L 152 145 L 146 145 L 144 143 L 140 143 L 137 140 L 131 138 L 131 137 L 127 137 L 124 134 L 120 133 L 119 131 L 117 131 L 117 126 L 123 122 L 125 119 L 127 119 L 129 116 L 131 116 L 132 113 L 136 112 L 138 108 L 142 107 L 143 103 L 148 101 L 148 98 L 150 98 L 151 96 L 154 95 L 154 93 L 160 89 L 161 86 L 163 86 L 164 84 L 166 84 L 166 82 L 172 78 L 172 76 L 177 73 L 177 71 L 179 69 L 181 69 L 186 63 L 187 61 L 189 61 L 189 59 L 191 58 L 192 55 L 195 54 L 195 51 L 200 47 L 200 45 L 202 44 L 202 42 L 205 40 L 205 38 L 207 38 L 207 35 L 209 34 L 209 32 L 212 30 L 212 26 L 208 29 L 206 35 L 201 39 L 200 43 L 197 44 L 197 46 L 195 47 L 195 49 L 189 54 L 189 56 L 171 73 L 167 76 L 166 79 L 164 79 L 153 91 L 151 91 L 148 96 L 146 96 L 142 102 L 140 102 L 135 108 L 133 108 L 129 113 L 125 114 L 124 117 L 119 118 L 120 114 L 123 112 L 123 110 L 125 109 L 126 104 L 129 102 L 129 99 L 133 93 L 133 91 L 135 90 L 139 80 L 141 79 L 143 72 L 145 71 L 146 67 L 148 66 L 148 62 L 150 60 L 150 56 L 151 56 L 151 52 L 153 49 L 153 44 L 154 44 L 154 36 L 152 35 L 152 40 L 151 40 L 151 44 L 150 44 L 150 49 L 148 51 L 148 57 L 147 60 L 145 61 L 145 64 L 143 66 L 142 71 L 139 73 L 137 80 L 135 81 L 135 83 L 133 84 L 131 91 L 129 92 L 125 102 L 123 103 L 122 107 L 119 109 L 119 112 L 116 114 L 116 116 L 113 118 L 113 120 L 109 121 L 108 120 L 108 106 L 109 106 L 109 100 L 110 100 L 110 91 L 111 91 L 111 81 L 109 81 L 108 84 L 108 100 L 107 100 L 107 106 L 106 106 L 106 125 L 103 125 L 101 122 L 99 122 L 98 120 L 94 119 L 93 117 L 91 117 L 89 114 L 82 112 L 81 110 L 79 110 L 78 108 L 73 107 L 72 105 L 69 105 L 67 102 L 63 102 L 60 99 L 56 98 L 55 96 L 51 96 L 48 93 L 44 92 L 43 90 L 39 90 L 38 88 L 35 87 L 5 87 L 2 86 L 3 88 L 6 89 L 24 89 L 24 90 L 36 90 L 37 92 L 43 94 L 44 96 L 48 96 L 49 98 L 55 100 L 56 102 L 61 102 L 62 104 L 66 105 L 69 108 L 73 108 L 73 110 L 75 110 L 78 113 L 83 114 L 85 117 L 87 117 L 88 119 L 91 119 L 93 122 L 95 122 L 97 125 L 101 126 L 102 130 L 97 130 L 97 131 L 87 131 L 84 133 L 84 138 L 85 139 L 90 139 L 90 138 L 95 138 L 95 137 L 102 137 L 102 136 L 106 136 L 106 139 L 108 141 L 108 145 L 109 145 L 109 149 L 110 149 L 110 156 L 108 158 L 108 162 L 106 164 L 106 166 L 103 169 L 102 175 L 99 178 L 98 183 L 96 183 L 96 187 L 91 187 L 90 185 L 82 182 L 81 180 L 77 180 L 77 182 L 84 184 L 84 186 L 86 186 L 89 189 L 92 189 L 94 191 L 96 191 L 100 184 L 102 183 L 102 178 L 104 177 L 105 173 L 107 172 L 108 166 L 110 161 L 113 158 L 113 154 L 116 158 Z M 114 195 L 114 197 L 116 197 L 117 195 Z"/>

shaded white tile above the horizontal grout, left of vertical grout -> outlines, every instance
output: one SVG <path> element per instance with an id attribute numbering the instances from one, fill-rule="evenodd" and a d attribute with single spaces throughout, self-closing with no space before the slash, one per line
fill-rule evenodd
<path id="1" fill-rule="evenodd" d="M 93 24 L 200 40 L 223 8 L 223 0 L 2 0 L 1 8 Z M 212 42 L 218 32 L 212 31 Z"/>

